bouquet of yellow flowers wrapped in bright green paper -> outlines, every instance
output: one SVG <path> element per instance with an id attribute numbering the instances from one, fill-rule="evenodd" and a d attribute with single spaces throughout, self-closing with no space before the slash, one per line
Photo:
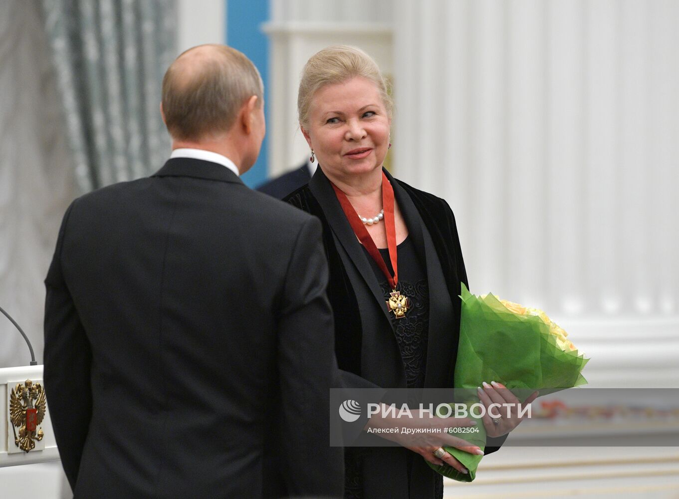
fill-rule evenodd
<path id="1" fill-rule="evenodd" d="M 540 390 L 540 394 L 586 384 L 581 374 L 589 359 L 568 340 L 567 333 L 542 310 L 528 308 L 492 294 L 475 296 L 462 284 L 460 342 L 455 365 L 455 388 L 476 393 L 484 381 L 500 382 L 509 390 Z M 479 399 L 469 401 L 478 403 Z M 483 422 L 479 432 L 465 434 L 473 445 L 485 447 Z M 468 437 L 470 435 L 470 437 Z M 473 481 L 483 456 L 444 447 L 469 470 L 462 474 L 443 464 L 428 463 L 457 481 Z"/>

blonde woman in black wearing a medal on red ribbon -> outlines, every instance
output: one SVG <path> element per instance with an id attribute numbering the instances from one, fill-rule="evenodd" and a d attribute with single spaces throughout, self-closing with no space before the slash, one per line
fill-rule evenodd
<path id="1" fill-rule="evenodd" d="M 318 168 L 286 199 L 323 223 L 344 386 L 452 388 L 457 297 L 460 282 L 467 282 L 455 218 L 444 200 L 382 168 L 392 102 L 378 65 L 357 48 L 321 50 L 304 67 L 297 107 Z M 492 386 L 486 390 L 498 396 Z M 489 435 L 500 437 L 516 424 L 507 418 L 488 428 Z M 442 478 L 425 460 L 465 472 L 440 447 L 380 435 L 402 447 L 346 447 L 346 497 L 441 498 Z M 480 452 L 450 439 L 449 445 Z"/>

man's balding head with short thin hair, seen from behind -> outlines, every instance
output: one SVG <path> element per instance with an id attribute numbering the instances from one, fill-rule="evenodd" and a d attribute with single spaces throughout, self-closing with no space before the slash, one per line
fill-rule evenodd
<path id="1" fill-rule="evenodd" d="M 255 64 L 225 45 L 199 45 L 172 62 L 163 78 L 162 109 L 173 139 L 200 141 L 224 134 L 251 96 L 261 106 Z"/>

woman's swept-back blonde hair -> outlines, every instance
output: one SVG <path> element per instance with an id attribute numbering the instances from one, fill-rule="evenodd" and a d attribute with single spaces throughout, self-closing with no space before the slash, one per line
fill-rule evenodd
<path id="1" fill-rule="evenodd" d="M 308 128 L 309 108 L 314 94 L 320 88 L 326 85 L 339 84 L 357 76 L 369 79 L 377 86 L 387 115 L 391 118 L 394 103 L 377 62 L 360 48 L 350 47 L 349 45 L 333 45 L 316 52 L 304 64 L 304 69 L 301 71 L 301 81 L 299 81 L 299 92 L 297 92 L 299 124 Z"/>

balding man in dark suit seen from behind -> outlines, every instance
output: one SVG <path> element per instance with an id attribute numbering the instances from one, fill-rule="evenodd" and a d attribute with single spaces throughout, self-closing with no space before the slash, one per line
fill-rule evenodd
<path id="1" fill-rule="evenodd" d="M 163 80 L 172 155 L 78 198 L 45 280 L 45 386 L 76 498 L 342 496 L 318 219 L 248 189 L 259 73 L 223 45 Z"/>

